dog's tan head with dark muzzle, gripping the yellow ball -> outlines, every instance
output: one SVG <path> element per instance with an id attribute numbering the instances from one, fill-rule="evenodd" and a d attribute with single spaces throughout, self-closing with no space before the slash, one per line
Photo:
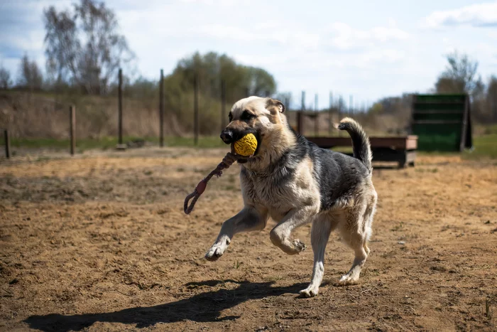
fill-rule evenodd
<path id="1" fill-rule="evenodd" d="M 268 144 L 280 145 L 282 136 L 288 136 L 285 105 L 272 98 L 248 97 L 236 102 L 229 112 L 229 124 L 221 132 L 226 144 L 234 143 L 246 134 L 257 139 L 254 156 L 265 153 Z"/>

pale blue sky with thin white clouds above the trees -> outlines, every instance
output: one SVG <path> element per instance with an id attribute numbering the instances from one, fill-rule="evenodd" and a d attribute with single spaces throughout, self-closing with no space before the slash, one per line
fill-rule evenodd
<path id="1" fill-rule="evenodd" d="M 67 0 L 1 0 L 0 65 L 16 76 L 27 53 L 45 68 L 43 9 Z M 427 92 L 457 50 L 497 75 L 497 1 L 108 0 L 138 72 L 158 79 L 195 51 L 268 70 L 278 91 L 307 105 L 329 92 L 363 105 Z"/>

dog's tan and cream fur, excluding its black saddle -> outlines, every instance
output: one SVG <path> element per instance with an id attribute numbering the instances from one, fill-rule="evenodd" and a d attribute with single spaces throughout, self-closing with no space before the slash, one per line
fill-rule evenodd
<path id="1" fill-rule="evenodd" d="M 256 114 L 249 124 L 240 117 L 247 110 Z M 371 223 L 376 207 L 376 191 L 371 174 L 358 186 L 356 192 L 340 198 L 334 208 L 321 211 L 320 186 L 314 176 L 315 162 L 307 157 L 299 161 L 291 181 L 278 186 L 271 185 L 271 179 L 280 169 L 271 169 L 272 162 L 297 144 L 295 135 L 288 128 L 283 112 L 284 105 L 271 98 L 249 97 L 236 102 L 231 108 L 232 121 L 227 129 L 242 129 L 249 126 L 261 136 L 258 153 L 245 164 L 241 164 L 241 192 L 244 209 L 226 220 L 214 245 L 205 257 L 215 260 L 224 254 L 236 232 L 262 230 L 269 217 L 278 224 L 270 232 L 271 242 L 289 255 L 305 250 L 300 240 L 291 238 L 292 231 L 306 223 L 312 223 L 311 242 L 315 253 L 312 281 L 302 296 L 315 296 L 324 274 L 324 249 L 329 234 L 337 229 L 355 252 L 350 271 L 339 283 L 351 284 L 359 279 L 361 268 L 369 254 L 367 246 L 371 236 Z M 352 123 L 353 120 L 347 120 Z M 353 122 L 354 126 L 359 126 Z M 358 127 L 359 129 L 360 126 Z M 320 212 L 321 211 L 321 212 Z"/>

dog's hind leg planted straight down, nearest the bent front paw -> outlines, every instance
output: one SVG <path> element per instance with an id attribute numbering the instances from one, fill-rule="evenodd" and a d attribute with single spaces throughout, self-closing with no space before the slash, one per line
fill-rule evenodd
<path id="1" fill-rule="evenodd" d="M 324 275 L 324 250 L 332 232 L 332 223 L 327 218 L 319 218 L 312 223 L 311 243 L 314 252 L 314 267 L 312 269 L 312 279 L 306 289 L 300 291 L 300 295 L 305 297 L 316 296 Z"/>

